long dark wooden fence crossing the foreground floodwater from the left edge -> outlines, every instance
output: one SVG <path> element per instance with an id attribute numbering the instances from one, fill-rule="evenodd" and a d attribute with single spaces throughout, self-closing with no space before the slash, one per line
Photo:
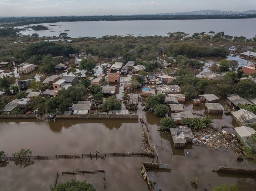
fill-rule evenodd
<path id="1" fill-rule="evenodd" d="M 0 162 L 7 161 L 40 161 L 40 160 L 58 160 L 58 159 L 87 159 L 87 158 L 107 158 L 107 157 L 154 157 L 154 154 L 144 152 L 117 152 L 117 153 L 100 153 L 95 154 L 65 154 L 65 155 L 46 155 L 46 156 L 26 156 L 26 157 L 0 157 Z"/>

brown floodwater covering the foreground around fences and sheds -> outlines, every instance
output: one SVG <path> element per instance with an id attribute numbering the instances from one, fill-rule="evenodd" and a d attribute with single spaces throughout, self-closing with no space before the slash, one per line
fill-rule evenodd
<path id="1" fill-rule="evenodd" d="M 121 87 L 120 87 L 121 88 Z M 121 92 L 120 92 L 121 93 Z M 220 100 L 225 106 L 225 100 Z M 185 103 L 185 110 L 205 114 L 203 105 L 193 106 L 191 101 Z M 159 154 L 159 161 L 171 164 L 171 171 L 148 169 L 155 190 L 193 190 L 190 180 L 197 176 L 198 190 L 212 190 L 220 184 L 236 184 L 240 190 L 256 190 L 254 175 L 239 175 L 212 172 L 219 166 L 240 168 L 255 168 L 245 160 L 236 161 L 236 155 L 231 148 L 220 148 L 219 151 L 204 144 L 185 149 L 175 149 L 170 133 L 159 133 L 159 120 L 151 112 L 141 110 L 139 117 L 144 117 L 148 123 L 148 132 Z M 221 130 L 221 125 L 238 126 L 230 116 L 215 115 L 214 126 Z M 225 128 L 233 132 L 232 128 Z M 20 148 L 30 148 L 33 155 L 55 154 L 88 154 L 90 152 L 141 152 L 142 125 L 139 120 L 56 120 L 43 122 L 38 120 L 0 120 L 0 150 L 8 156 Z M 74 144 L 73 144 L 74 143 Z M 196 157 L 196 159 L 195 159 Z M 107 190 L 145 190 L 147 185 L 140 176 L 142 162 L 156 162 L 156 159 L 146 157 L 107 158 L 107 159 L 69 159 L 35 161 L 35 164 L 25 168 L 16 166 L 13 162 L 0 168 L 0 184 L 3 190 L 48 190 L 55 182 L 57 172 L 59 182 L 67 180 L 87 180 L 97 190 L 104 189 L 103 174 L 70 175 L 62 177 L 61 172 L 83 170 L 105 170 Z"/>

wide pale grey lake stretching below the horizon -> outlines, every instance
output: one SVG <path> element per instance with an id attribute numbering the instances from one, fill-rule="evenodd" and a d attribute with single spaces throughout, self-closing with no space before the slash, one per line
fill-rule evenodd
<path id="1" fill-rule="evenodd" d="M 254 24 L 253 24 L 254 23 Z M 102 37 L 104 35 L 134 35 L 166 36 L 168 32 L 182 31 L 193 34 L 195 32 L 224 31 L 232 36 L 253 38 L 256 35 L 256 18 L 253 19 L 205 19 L 205 20 L 159 20 L 159 21 L 81 21 L 44 23 L 50 30 L 34 31 L 31 28 L 22 34 L 38 33 L 40 37 L 58 36 L 66 32 L 69 37 Z M 35 24 L 39 25 L 39 24 Z M 55 25 L 55 26 L 52 26 Z M 29 27 L 25 25 L 18 28 Z M 70 30 L 70 31 L 65 31 Z"/>

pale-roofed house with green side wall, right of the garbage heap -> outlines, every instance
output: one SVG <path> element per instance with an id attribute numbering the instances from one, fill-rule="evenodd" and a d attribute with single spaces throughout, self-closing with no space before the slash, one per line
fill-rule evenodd
<path id="1" fill-rule="evenodd" d="M 248 137 L 256 133 L 256 131 L 247 126 L 235 127 L 235 135 L 241 143 L 248 145 Z M 249 146 L 249 145 L 248 145 Z"/>

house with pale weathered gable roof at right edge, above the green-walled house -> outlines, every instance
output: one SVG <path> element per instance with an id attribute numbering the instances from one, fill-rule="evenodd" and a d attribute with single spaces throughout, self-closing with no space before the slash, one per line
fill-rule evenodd
<path id="1" fill-rule="evenodd" d="M 256 115 L 244 109 L 233 112 L 232 116 L 235 119 L 235 121 L 239 124 L 256 123 Z"/>

